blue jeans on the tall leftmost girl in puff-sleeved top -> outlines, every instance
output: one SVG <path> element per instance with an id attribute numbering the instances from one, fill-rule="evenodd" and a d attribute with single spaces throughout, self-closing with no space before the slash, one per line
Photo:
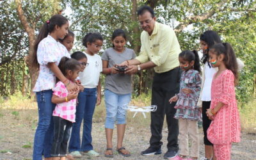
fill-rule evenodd
<path id="1" fill-rule="evenodd" d="M 36 92 L 36 101 L 38 105 L 38 125 L 34 138 L 33 160 L 51 157 L 51 148 L 53 140 L 53 120 L 52 111 L 55 104 L 51 102 L 52 90 L 43 90 Z"/>

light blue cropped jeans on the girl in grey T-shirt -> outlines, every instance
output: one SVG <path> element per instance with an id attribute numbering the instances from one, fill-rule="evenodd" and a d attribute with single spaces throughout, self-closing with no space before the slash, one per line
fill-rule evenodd
<path id="1" fill-rule="evenodd" d="M 104 92 L 106 104 L 106 122 L 105 128 L 114 129 L 116 124 L 126 124 L 126 110 L 124 104 L 128 104 L 131 100 L 131 93 L 121 95 L 105 90 Z"/>

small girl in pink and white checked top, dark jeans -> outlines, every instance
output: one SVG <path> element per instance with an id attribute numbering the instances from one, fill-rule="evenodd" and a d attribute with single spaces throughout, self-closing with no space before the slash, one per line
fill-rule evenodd
<path id="1" fill-rule="evenodd" d="M 67 57 L 61 58 L 59 68 L 63 75 L 69 80 L 69 83 L 74 83 L 81 65 L 77 60 Z M 72 123 L 76 120 L 76 98 L 77 92 L 69 92 L 65 84 L 61 81 L 56 83 L 52 89 L 52 103 L 56 104 L 53 111 L 54 122 L 54 139 L 51 149 L 52 159 L 65 159 L 67 156 L 67 143 L 70 136 Z"/>

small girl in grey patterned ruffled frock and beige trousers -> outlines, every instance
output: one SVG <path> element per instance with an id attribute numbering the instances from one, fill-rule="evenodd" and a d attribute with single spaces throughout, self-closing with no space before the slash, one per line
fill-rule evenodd
<path id="1" fill-rule="evenodd" d="M 180 68 L 184 70 L 180 77 L 180 92 L 169 102 L 176 102 L 174 118 L 179 119 L 180 154 L 175 159 L 198 159 L 199 134 L 198 120 L 202 120 L 197 101 L 201 89 L 200 60 L 196 51 L 183 51 L 179 54 Z M 189 154 L 188 135 L 192 139 Z M 189 158 L 190 157 L 190 158 Z"/>

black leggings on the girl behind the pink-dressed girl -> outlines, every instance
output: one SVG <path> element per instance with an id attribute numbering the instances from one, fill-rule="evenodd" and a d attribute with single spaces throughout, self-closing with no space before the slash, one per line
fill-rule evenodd
<path id="1" fill-rule="evenodd" d="M 211 101 L 203 101 L 202 104 L 202 116 L 203 116 L 203 129 L 204 129 L 204 144 L 205 145 L 212 145 L 211 141 L 207 138 L 207 129 L 211 124 L 211 120 L 209 120 L 208 116 L 206 115 L 207 109 L 211 106 Z"/>

